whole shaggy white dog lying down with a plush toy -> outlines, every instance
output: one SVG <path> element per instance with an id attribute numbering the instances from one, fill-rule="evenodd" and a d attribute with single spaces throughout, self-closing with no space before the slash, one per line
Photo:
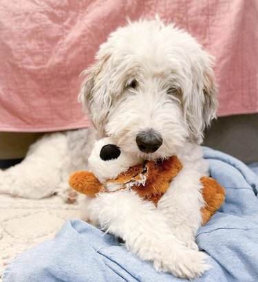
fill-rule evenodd
<path id="1" fill-rule="evenodd" d="M 98 138 L 110 136 L 122 151 L 142 160 L 178 155 L 183 169 L 157 208 L 132 191 L 101 193 L 85 198 L 84 219 L 122 237 L 128 250 L 152 261 L 156 270 L 198 277 L 209 267 L 195 235 L 204 206 L 200 177 L 208 171 L 200 143 L 217 110 L 213 58 L 187 32 L 155 19 L 118 28 L 100 46 L 96 59 L 84 72 L 79 100 Z M 23 197 L 51 195 L 57 186 L 66 190 L 69 173 L 86 166 L 94 133 L 55 134 L 34 144 L 23 163 L 1 172 L 0 183 L 10 177 L 1 190 Z M 84 158 L 78 158 L 82 150 Z M 51 181 L 46 180 L 48 173 Z M 22 180 L 17 175 L 23 175 Z M 36 189 L 28 189 L 29 175 Z"/>

